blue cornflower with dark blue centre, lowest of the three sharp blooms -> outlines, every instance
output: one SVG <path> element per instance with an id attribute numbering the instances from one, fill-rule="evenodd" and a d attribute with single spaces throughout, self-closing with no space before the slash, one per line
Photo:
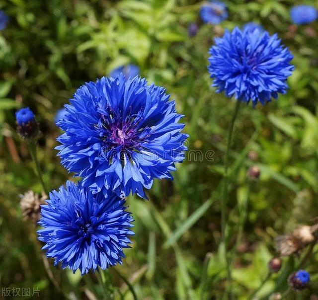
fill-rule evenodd
<path id="1" fill-rule="evenodd" d="M 97 266 L 105 270 L 125 257 L 123 248 L 131 243 L 127 235 L 134 232 L 130 213 L 124 200 L 112 195 L 104 201 L 103 194 L 93 195 L 87 188 L 67 181 L 66 188 L 52 191 L 47 205 L 41 206 L 38 238 L 46 243 L 46 256 L 55 258 L 55 265 L 77 269 L 81 274 Z"/>

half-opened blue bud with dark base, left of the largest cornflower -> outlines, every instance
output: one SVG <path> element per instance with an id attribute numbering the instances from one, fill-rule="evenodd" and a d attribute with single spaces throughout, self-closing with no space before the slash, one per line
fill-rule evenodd
<path id="1" fill-rule="evenodd" d="M 21 108 L 15 113 L 16 129 L 23 139 L 32 139 L 37 136 L 39 129 L 33 112 L 28 108 Z"/>

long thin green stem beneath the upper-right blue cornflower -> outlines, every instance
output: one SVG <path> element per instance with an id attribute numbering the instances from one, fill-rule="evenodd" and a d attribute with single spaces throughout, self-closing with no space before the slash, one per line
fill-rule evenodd
<path id="1" fill-rule="evenodd" d="M 226 242 L 226 207 L 227 207 L 227 200 L 228 200 L 228 184 L 229 184 L 229 178 L 228 178 L 228 168 L 229 168 L 229 156 L 230 156 L 230 149 L 231 149 L 231 143 L 232 143 L 232 136 L 233 136 L 233 129 L 234 129 L 234 123 L 238 116 L 239 112 L 239 105 L 240 101 L 236 101 L 236 106 L 234 113 L 232 115 L 229 132 L 228 132 L 228 143 L 227 143 L 227 149 L 225 151 L 225 159 L 224 159 L 224 185 L 223 185 L 223 193 L 222 193 L 222 199 L 221 199 L 221 226 L 222 226 L 222 235 L 221 235 L 221 242 L 224 243 L 225 248 L 225 259 L 226 259 L 226 265 L 227 265 L 227 287 L 225 291 L 225 298 L 227 299 L 227 294 L 230 292 L 231 294 L 231 285 L 232 285 L 232 278 L 231 278 L 231 268 L 230 268 L 230 261 L 227 255 L 227 242 Z"/>

